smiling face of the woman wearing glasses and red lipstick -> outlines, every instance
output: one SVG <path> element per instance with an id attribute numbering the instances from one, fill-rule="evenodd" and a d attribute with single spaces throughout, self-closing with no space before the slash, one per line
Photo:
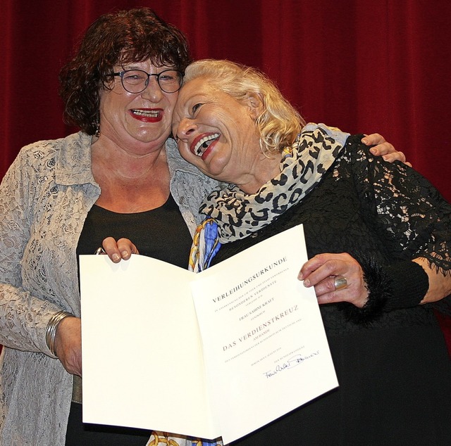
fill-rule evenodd
<path id="1" fill-rule="evenodd" d="M 155 67 L 149 60 L 116 66 L 114 72 L 144 70 L 158 74 L 173 67 Z M 155 76 L 141 93 L 129 93 L 121 84 L 121 77 L 114 77 L 111 90 L 101 91 L 100 131 L 118 146 L 162 147 L 171 134 L 172 114 L 178 93 L 161 91 Z M 147 146 L 146 149 L 144 149 Z"/>

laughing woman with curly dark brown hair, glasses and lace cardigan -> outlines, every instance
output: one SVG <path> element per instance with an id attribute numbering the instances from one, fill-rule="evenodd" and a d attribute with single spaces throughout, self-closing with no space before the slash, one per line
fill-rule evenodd
<path id="1" fill-rule="evenodd" d="M 2 181 L 0 445 L 149 438 L 82 423 L 77 258 L 127 237 L 187 266 L 199 203 L 217 185 L 170 138 L 188 63 L 183 34 L 148 8 L 101 16 L 61 71 L 66 117 L 81 131 L 23 148 Z"/>

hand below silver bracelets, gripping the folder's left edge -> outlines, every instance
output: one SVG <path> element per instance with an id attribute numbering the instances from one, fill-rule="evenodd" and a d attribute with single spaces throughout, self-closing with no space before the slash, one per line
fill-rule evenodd
<path id="1" fill-rule="evenodd" d="M 79 317 L 65 317 L 58 324 L 55 352 L 68 373 L 82 376 L 82 329 Z"/>

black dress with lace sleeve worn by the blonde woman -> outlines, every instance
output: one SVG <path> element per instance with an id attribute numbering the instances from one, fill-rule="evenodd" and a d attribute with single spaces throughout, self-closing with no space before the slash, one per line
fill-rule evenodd
<path id="1" fill-rule="evenodd" d="M 302 203 L 224 245 L 214 263 L 302 223 L 309 257 L 346 252 L 393 265 L 421 254 L 450 270 L 451 205 L 414 170 L 373 158 L 360 138 Z M 451 361 L 432 306 L 357 323 L 347 305 L 321 306 L 340 387 L 233 445 L 451 445 Z"/>

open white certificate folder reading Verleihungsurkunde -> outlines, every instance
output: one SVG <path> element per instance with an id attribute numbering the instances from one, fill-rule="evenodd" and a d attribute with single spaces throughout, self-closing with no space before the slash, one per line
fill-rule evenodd
<path id="1" fill-rule="evenodd" d="M 194 274 L 80 256 L 83 421 L 241 438 L 338 386 L 302 226 Z"/>

